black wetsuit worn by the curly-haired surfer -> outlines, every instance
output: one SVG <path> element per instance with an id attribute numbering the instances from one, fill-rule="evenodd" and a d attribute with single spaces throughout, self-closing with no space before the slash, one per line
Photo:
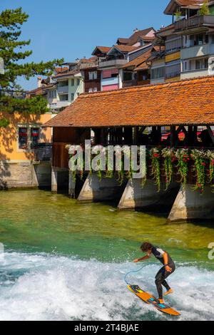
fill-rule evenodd
<path id="1" fill-rule="evenodd" d="M 152 254 L 162 263 L 164 264 L 164 260 L 163 260 L 163 254 L 166 253 L 168 254 L 168 252 L 165 252 L 163 249 L 158 248 L 158 247 L 153 247 L 152 248 Z M 150 255 L 149 255 L 150 256 Z M 171 269 L 172 272 L 168 272 L 165 270 L 165 265 L 164 267 L 161 267 L 161 269 L 158 271 L 158 273 L 156 274 L 156 287 L 158 290 L 158 294 L 159 294 L 159 299 L 163 299 L 163 287 L 162 285 L 165 287 L 165 289 L 168 291 L 170 289 L 168 283 L 165 281 L 165 279 L 170 276 L 170 274 L 172 274 L 175 271 L 175 263 L 173 262 L 173 259 L 171 259 L 170 255 L 168 254 L 168 265 Z"/>

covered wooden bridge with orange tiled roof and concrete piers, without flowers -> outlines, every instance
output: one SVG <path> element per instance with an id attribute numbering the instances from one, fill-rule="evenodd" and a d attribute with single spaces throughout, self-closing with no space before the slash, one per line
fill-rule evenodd
<path id="1" fill-rule="evenodd" d="M 57 173 L 68 169 L 66 144 L 84 143 L 85 139 L 91 139 L 95 144 L 136 144 L 159 150 L 168 147 L 198 150 L 203 147 L 203 152 L 214 150 L 213 93 L 214 77 L 209 76 L 81 94 L 72 105 L 44 125 L 54 128 L 53 190 L 56 190 Z M 94 178 L 93 182 L 91 178 Z M 178 184 L 175 187 L 172 180 L 167 191 L 162 187 L 157 193 L 152 180 L 143 188 L 138 180 L 129 180 L 120 193 L 116 192 L 116 180 L 103 180 L 98 184 L 95 179 L 96 176 L 87 177 L 78 200 L 106 200 L 118 193 L 121 209 L 143 209 L 167 202 L 172 205 L 169 215 L 172 221 L 214 216 L 214 195 L 210 185 L 204 185 L 201 197 L 200 192 L 192 192 L 192 185 L 188 183 L 178 190 Z M 70 187 L 71 184 L 70 180 Z"/>

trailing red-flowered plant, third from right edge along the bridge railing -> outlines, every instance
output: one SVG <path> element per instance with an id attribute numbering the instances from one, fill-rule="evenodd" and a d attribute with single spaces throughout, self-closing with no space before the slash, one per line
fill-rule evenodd
<path id="1" fill-rule="evenodd" d="M 178 165 L 176 165 L 176 168 L 178 168 L 177 175 L 180 175 L 180 180 L 178 182 L 181 182 L 183 187 L 185 187 L 188 177 L 188 162 L 190 160 L 189 150 L 188 149 L 176 150 L 175 158 L 177 158 L 178 160 Z"/>

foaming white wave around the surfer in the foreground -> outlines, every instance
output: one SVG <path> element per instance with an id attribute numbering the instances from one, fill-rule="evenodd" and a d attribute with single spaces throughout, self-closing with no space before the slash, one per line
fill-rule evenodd
<path id="1" fill-rule="evenodd" d="M 141 264 L 142 265 L 142 264 Z M 0 262 L 0 320 L 167 320 L 128 291 L 124 274 L 141 265 L 6 253 Z M 157 264 L 145 264 L 128 280 L 156 294 Z M 180 320 L 214 320 L 214 273 L 178 266 L 168 303 Z"/>

